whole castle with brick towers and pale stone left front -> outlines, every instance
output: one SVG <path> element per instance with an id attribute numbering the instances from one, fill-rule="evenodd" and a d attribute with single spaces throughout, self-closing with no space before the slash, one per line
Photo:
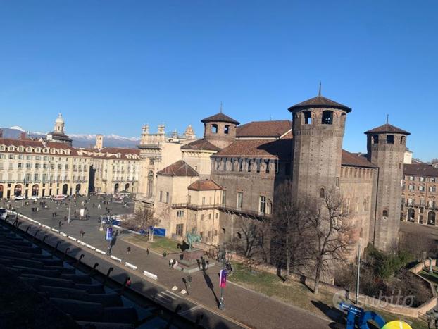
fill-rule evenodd
<path id="1" fill-rule="evenodd" d="M 154 159 L 154 167 L 146 170 L 153 182 L 147 204 L 161 216 L 168 237 L 196 230 L 207 244 L 242 240 L 245 223 L 272 216 L 274 192 L 289 179 L 294 200 L 337 190 L 351 213 L 353 239 L 361 239 L 363 247 L 372 242 L 389 249 L 399 233 L 409 133 L 389 124 L 368 130 L 368 154 L 353 154 L 342 149 L 351 108 L 318 95 L 289 111 L 292 122 L 244 125 L 220 111 L 201 120 L 202 139 L 178 144 L 165 165 L 161 157 L 160 168 L 155 162 L 160 158 Z M 143 151 L 149 146 L 140 148 L 146 156 L 142 167 L 151 166 L 151 152 Z"/>

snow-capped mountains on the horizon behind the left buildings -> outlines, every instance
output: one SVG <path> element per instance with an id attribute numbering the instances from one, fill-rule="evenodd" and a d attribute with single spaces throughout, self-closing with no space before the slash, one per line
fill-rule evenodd
<path id="1" fill-rule="evenodd" d="M 18 125 L 14 125 L 11 128 L 0 128 L 3 130 L 4 138 L 18 139 L 20 134 L 25 132 L 23 128 Z M 42 132 L 30 132 L 30 137 L 39 138 L 45 136 Z M 90 147 L 96 143 L 96 135 L 84 135 L 84 134 L 71 134 L 69 135 L 73 139 L 74 147 Z M 119 135 L 105 135 L 104 147 L 137 147 L 140 139 L 138 137 L 123 137 Z"/>

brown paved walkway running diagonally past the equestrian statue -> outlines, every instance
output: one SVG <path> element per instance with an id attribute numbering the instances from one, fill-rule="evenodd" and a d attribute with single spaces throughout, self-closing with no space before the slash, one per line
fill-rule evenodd
<path id="1" fill-rule="evenodd" d="M 52 218 L 38 218 L 38 221 L 46 225 L 54 225 Z M 85 232 L 83 237 L 80 237 L 81 230 Z M 99 231 L 97 222 L 73 221 L 70 225 L 63 225 L 61 231 L 101 250 L 107 250 L 109 247 L 104 238 L 104 232 Z M 218 267 L 211 267 L 205 273 L 202 271 L 192 273 L 189 296 L 182 295 L 181 290 L 187 291 L 184 284 L 185 273 L 169 268 L 168 258 L 152 252 L 146 255 L 143 248 L 125 242 L 120 238 L 123 234 L 119 231 L 116 236 L 111 248 L 111 256 L 121 259 L 118 263 L 128 262 L 136 266 L 139 275 L 142 275 L 143 271 L 157 275 L 158 283 L 168 287 L 167 290 L 156 294 L 158 302 L 172 304 L 177 297 L 188 298 L 251 328 L 329 328 L 330 321 L 323 317 L 315 316 L 232 283 L 225 288 L 225 310 L 220 311 L 218 309 L 220 299 Z M 129 254 L 127 247 L 130 247 Z M 170 290 L 174 286 L 177 286 L 177 290 Z"/>

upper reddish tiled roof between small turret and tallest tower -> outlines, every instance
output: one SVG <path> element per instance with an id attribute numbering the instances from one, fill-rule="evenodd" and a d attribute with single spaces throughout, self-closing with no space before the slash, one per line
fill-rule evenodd
<path id="1" fill-rule="evenodd" d="M 292 129 L 292 121 L 253 121 L 237 127 L 237 137 L 280 137 Z"/>

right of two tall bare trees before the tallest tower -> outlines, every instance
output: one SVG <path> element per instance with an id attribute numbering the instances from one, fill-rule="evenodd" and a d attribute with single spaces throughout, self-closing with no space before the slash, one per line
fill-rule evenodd
<path id="1" fill-rule="evenodd" d="M 348 209 L 337 190 L 321 198 L 306 197 L 300 206 L 306 213 L 313 237 L 308 240 L 315 262 L 314 294 L 318 294 L 321 275 L 335 263 L 344 261 L 351 247 L 351 225 Z"/>

